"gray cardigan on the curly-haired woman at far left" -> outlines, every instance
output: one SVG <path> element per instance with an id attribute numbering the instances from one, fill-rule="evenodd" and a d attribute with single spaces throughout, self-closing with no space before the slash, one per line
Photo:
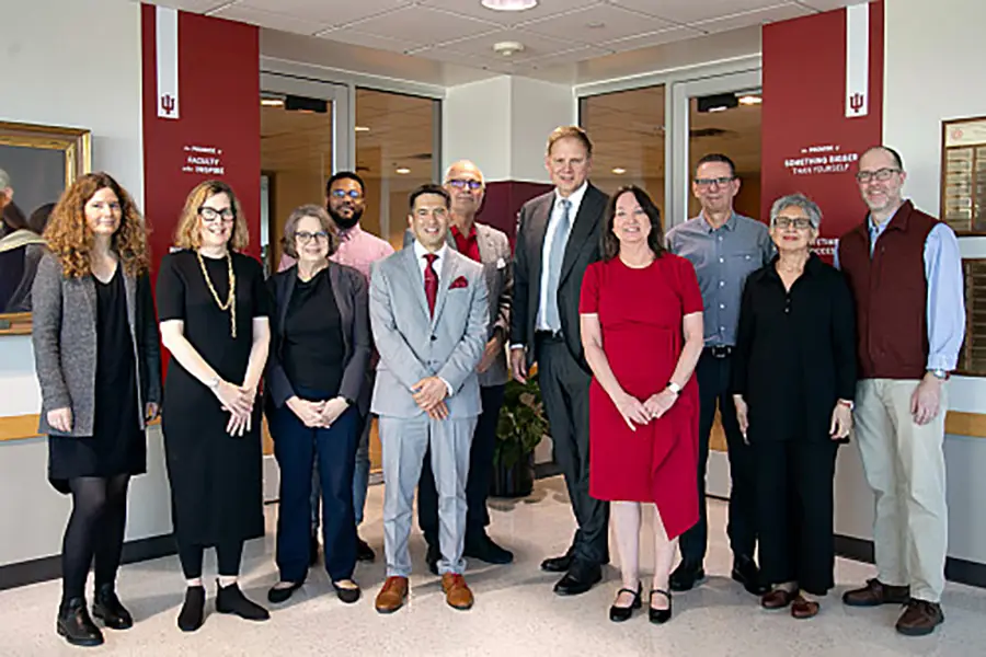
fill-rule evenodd
<path id="1" fill-rule="evenodd" d="M 124 285 L 137 365 L 137 417 L 142 430 L 146 428 L 145 404 L 161 404 L 160 335 L 148 276 L 124 275 Z M 31 337 L 42 390 L 38 431 L 92 436 L 96 370 L 95 283 L 91 275 L 67 278 L 60 261 L 46 250 L 37 266 L 31 298 Z M 72 430 L 68 434 L 53 429 L 47 422 L 48 411 L 65 407 L 72 410 Z"/>

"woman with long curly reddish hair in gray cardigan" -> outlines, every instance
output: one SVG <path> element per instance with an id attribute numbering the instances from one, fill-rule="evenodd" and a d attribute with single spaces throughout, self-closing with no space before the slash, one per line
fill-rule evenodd
<path id="1" fill-rule="evenodd" d="M 66 191 L 45 231 L 34 279 L 33 343 L 48 435 L 48 480 L 72 496 L 61 548 L 57 631 L 74 645 L 103 635 L 85 609 L 95 556 L 93 615 L 134 624 L 115 592 L 130 476 L 146 472 L 146 423 L 158 414 L 161 357 L 144 220 L 105 173 Z"/>

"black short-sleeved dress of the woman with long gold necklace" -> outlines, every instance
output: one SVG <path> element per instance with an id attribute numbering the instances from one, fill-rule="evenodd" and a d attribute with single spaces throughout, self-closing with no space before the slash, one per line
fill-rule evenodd
<path id="1" fill-rule="evenodd" d="M 165 255 L 158 274 L 160 321 L 183 320 L 184 336 L 226 381 L 241 384 L 253 344 L 253 318 L 268 316 L 260 264 L 231 253 L 237 286 L 237 337 L 230 311 L 217 306 L 194 251 Z M 229 293 L 226 258 L 203 258 L 219 299 Z M 263 535 L 261 404 L 251 430 L 227 430 L 229 413 L 211 390 L 174 358 L 164 381 L 162 429 L 171 510 L 180 545 L 218 545 Z"/>

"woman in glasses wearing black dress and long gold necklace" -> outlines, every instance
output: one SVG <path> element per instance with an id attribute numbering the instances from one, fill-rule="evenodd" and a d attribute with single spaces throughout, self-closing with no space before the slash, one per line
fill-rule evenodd
<path id="1" fill-rule="evenodd" d="M 216 611 L 260 621 L 267 611 L 237 585 L 243 542 L 264 533 L 257 385 L 267 360 L 270 314 L 260 264 L 240 203 L 226 183 L 207 181 L 185 201 L 175 233 L 181 251 L 158 275 L 161 337 L 173 361 L 164 382 L 164 452 L 182 570 L 177 619 L 203 622 L 203 552 L 219 566 Z"/>

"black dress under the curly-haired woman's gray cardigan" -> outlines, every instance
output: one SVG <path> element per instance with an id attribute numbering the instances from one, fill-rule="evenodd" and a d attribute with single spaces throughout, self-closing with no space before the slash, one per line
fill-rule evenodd
<path id="1" fill-rule="evenodd" d="M 96 292 L 96 372 L 93 435 L 48 436 L 48 481 L 68 494 L 68 480 L 147 471 L 147 441 L 137 408 L 134 337 L 127 320 L 123 265 Z"/>

